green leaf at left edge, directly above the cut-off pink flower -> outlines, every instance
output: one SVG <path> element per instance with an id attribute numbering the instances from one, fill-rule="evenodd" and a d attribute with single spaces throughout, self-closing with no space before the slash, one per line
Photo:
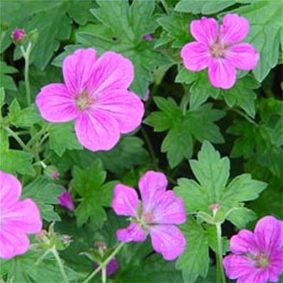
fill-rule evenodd
<path id="1" fill-rule="evenodd" d="M 11 174 L 28 174 L 33 176 L 35 171 L 31 165 L 33 154 L 9 149 L 8 134 L 4 129 L 0 129 L 0 170 Z"/>

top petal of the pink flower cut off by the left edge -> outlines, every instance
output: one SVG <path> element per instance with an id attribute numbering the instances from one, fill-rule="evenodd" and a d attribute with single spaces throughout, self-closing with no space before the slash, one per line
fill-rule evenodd
<path id="1" fill-rule="evenodd" d="M 21 196 L 21 183 L 9 173 L 0 171 L 0 207 L 1 213 L 5 208 L 14 205 Z"/>

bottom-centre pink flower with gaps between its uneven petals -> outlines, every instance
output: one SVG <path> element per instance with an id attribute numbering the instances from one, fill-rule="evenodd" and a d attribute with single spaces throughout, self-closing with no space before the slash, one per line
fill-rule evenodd
<path id="1" fill-rule="evenodd" d="M 147 171 L 139 181 L 142 203 L 134 188 L 119 184 L 114 188 L 112 208 L 132 220 L 128 228 L 117 230 L 119 241 L 142 242 L 149 233 L 154 250 L 165 260 L 175 260 L 185 249 L 186 240 L 174 224 L 186 221 L 186 211 L 182 199 L 166 191 L 167 184 L 163 173 Z"/>

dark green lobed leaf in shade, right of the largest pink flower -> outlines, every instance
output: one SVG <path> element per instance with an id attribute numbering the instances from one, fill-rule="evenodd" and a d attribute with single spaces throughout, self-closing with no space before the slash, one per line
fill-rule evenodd
<path id="1" fill-rule="evenodd" d="M 218 126 L 214 124 L 224 116 L 224 112 L 213 110 L 212 105 L 206 104 L 198 110 L 184 110 L 178 107 L 171 97 L 166 100 L 154 97 L 161 111 L 152 112 L 144 122 L 154 127 L 156 132 L 168 134 L 161 144 L 161 151 L 166 152 L 171 168 L 177 166 L 183 158 L 190 159 L 193 154 L 193 140 L 221 143 L 223 137 Z"/>

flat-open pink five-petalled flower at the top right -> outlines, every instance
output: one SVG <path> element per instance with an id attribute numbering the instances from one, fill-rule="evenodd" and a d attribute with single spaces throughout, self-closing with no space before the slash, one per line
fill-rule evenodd
<path id="1" fill-rule="evenodd" d="M 218 30 L 214 18 L 202 17 L 191 22 L 191 34 L 196 39 L 181 50 L 188 70 L 198 72 L 208 68 L 208 78 L 214 87 L 228 89 L 236 81 L 236 68 L 252 70 L 259 53 L 248 43 L 239 43 L 247 36 L 250 24 L 237 14 L 227 14 Z"/>

